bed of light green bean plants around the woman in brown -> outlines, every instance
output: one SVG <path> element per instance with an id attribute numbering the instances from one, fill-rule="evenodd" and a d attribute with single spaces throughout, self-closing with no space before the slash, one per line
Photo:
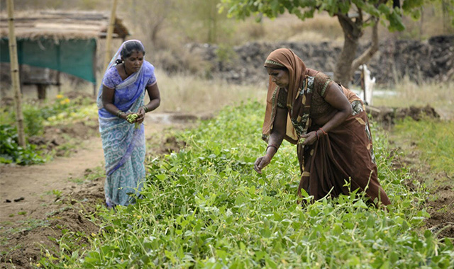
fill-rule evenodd
<path id="1" fill-rule="evenodd" d="M 40 261 L 45 268 L 450 268 L 454 246 L 421 230 L 424 190 L 408 190 L 390 167 L 387 140 L 374 134 L 389 212 L 361 195 L 297 204 L 296 149 L 283 144 L 260 175 L 263 107 L 228 107 L 196 130 L 187 147 L 154 159 L 135 205 L 100 210 L 101 232 L 80 256 Z M 308 197 L 306 196 L 306 198 Z M 78 249 L 67 249 L 74 253 Z"/>

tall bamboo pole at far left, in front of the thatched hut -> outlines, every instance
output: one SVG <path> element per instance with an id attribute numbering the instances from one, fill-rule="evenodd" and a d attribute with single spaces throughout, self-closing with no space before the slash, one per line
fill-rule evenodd
<path id="1" fill-rule="evenodd" d="M 9 28 L 9 60 L 11 62 L 11 82 L 14 89 L 14 105 L 16 107 L 16 125 L 18 133 L 18 143 L 21 147 L 26 147 L 25 131 L 23 128 L 22 96 L 21 84 L 19 81 L 19 64 L 17 59 L 16 34 L 14 33 L 14 6 L 13 0 L 6 2 L 8 8 L 8 28 Z"/>

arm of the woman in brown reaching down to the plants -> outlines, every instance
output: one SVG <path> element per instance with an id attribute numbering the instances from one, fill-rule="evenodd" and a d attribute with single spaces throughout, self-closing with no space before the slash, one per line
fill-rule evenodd
<path id="1" fill-rule="evenodd" d="M 265 156 L 255 160 L 254 169 L 257 173 L 262 173 L 262 168 L 265 168 L 265 166 L 270 164 L 272 157 L 275 156 L 277 149 L 281 146 L 287 130 L 287 113 L 287 109 L 277 108 L 270 139 L 268 139 L 267 152 Z"/>

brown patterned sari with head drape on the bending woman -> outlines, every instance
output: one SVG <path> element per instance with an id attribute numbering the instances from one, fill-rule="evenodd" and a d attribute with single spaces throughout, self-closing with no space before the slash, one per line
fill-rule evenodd
<path id="1" fill-rule="evenodd" d="M 302 60 L 288 49 L 272 52 L 265 61 L 265 67 L 285 67 L 289 71 L 289 115 L 284 139 L 297 144 L 301 170 L 298 195 L 301 196 L 301 189 L 304 189 L 314 200 L 319 200 L 327 195 L 333 198 L 341 194 L 348 195 L 350 190 L 359 189 L 375 205 L 379 202 L 389 205 L 391 202 L 377 179 L 369 122 L 360 98 L 342 86 L 343 93 L 352 104 L 353 113 L 341 125 L 330 130 L 328 135 L 321 136 L 314 144 L 304 146 L 299 143 L 299 137 L 321 127 L 311 124 L 311 97 L 320 93 L 323 97 L 326 86 L 332 82 L 314 83 L 317 72 L 306 69 Z M 272 132 L 278 94 L 279 88 L 270 79 L 262 130 L 265 141 Z M 349 183 L 350 188 L 345 183 Z"/>

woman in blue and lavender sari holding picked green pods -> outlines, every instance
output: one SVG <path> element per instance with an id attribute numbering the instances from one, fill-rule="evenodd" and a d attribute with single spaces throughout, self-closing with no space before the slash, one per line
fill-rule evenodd
<path id="1" fill-rule="evenodd" d="M 107 67 L 96 101 L 109 208 L 133 203 L 145 178 L 145 134 L 141 123 L 145 113 L 160 105 L 160 93 L 155 67 L 144 57 L 142 42 L 123 42 Z M 150 96 L 146 105 L 145 91 Z M 132 113 L 138 114 L 138 118 L 128 122 L 126 119 Z"/>

